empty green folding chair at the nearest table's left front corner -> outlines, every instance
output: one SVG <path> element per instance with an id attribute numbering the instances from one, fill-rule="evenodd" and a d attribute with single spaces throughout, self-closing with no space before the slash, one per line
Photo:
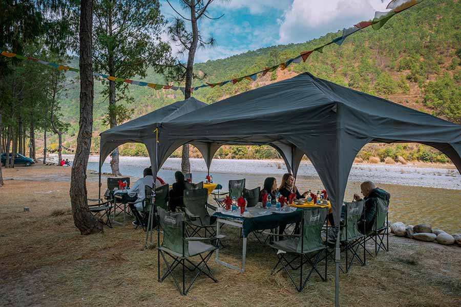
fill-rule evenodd
<path id="1" fill-rule="evenodd" d="M 187 294 L 201 273 L 211 278 L 214 282 L 218 282 L 209 269 L 207 262 L 212 257 L 215 250 L 218 249 L 219 240 L 224 238 L 224 235 L 210 238 L 186 237 L 186 223 L 183 212 L 168 212 L 162 208 L 158 208 L 158 281 L 162 282 L 166 277 L 171 275 L 179 293 L 182 295 Z M 163 241 L 161 243 L 160 226 L 163 229 Z M 215 242 L 215 244 L 213 244 L 213 242 Z M 205 254 L 205 256 L 202 256 L 202 254 Z M 167 261 L 166 255 L 173 259 L 172 263 Z M 167 271 L 161 277 L 160 256 L 167 267 Z M 197 265 L 190 260 L 190 258 L 194 256 L 200 256 L 201 261 Z M 180 267 L 182 266 L 182 288 L 174 275 L 174 270 L 178 265 Z M 190 266 L 192 266 L 192 268 Z M 187 289 L 185 288 L 185 269 L 191 272 L 197 271 Z"/>

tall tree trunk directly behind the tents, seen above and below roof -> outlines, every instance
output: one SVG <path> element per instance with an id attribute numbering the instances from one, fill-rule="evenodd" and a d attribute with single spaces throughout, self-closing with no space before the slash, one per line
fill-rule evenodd
<path id="1" fill-rule="evenodd" d="M 191 48 L 189 49 L 187 55 L 187 67 L 186 67 L 186 82 L 185 82 L 185 91 L 184 99 L 191 98 L 191 88 L 192 88 L 192 78 L 194 76 L 194 58 L 195 52 L 197 51 L 198 43 L 198 27 L 197 27 L 197 18 L 196 18 L 196 1 L 191 0 L 191 25 L 192 25 L 192 42 Z M 189 145 L 182 146 L 182 158 L 181 158 L 181 171 L 186 174 L 191 172 L 191 161 L 189 160 Z"/>

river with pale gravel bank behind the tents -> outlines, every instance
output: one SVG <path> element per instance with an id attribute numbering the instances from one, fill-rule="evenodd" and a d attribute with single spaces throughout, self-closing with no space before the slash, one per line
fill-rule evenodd
<path id="1" fill-rule="evenodd" d="M 144 168 L 150 166 L 149 158 L 120 157 L 123 175 L 142 177 Z M 174 172 L 180 170 L 181 159 L 169 158 L 158 176 L 166 182 L 174 182 Z M 88 169 L 98 170 L 98 157 L 91 156 Z M 191 159 L 193 181 L 205 180 L 206 165 L 203 159 Z M 110 173 L 109 158 L 102 172 Z M 227 160 L 215 159 L 210 173 L 213 181 L 227 190 L 229 179 L 246 178 L 246 187 L 262 186 L 268 176 L 280 183 L 286 172 L 283 161 L 277 160 Z M 391 194 L 389 221 L 415 225 L 427 223 L 447 232 L 461 232 L 461 175 L 457 170 L 389 166 L 386 164 L 360 164 L 352 167 L 346 188 L 346 201 L 354 193 L 360 194 L 360 182 L 371 180 Z M 302 162 L 296 185 L 306 190 L 323 190 L 316 170 L 309 162 Z"/>

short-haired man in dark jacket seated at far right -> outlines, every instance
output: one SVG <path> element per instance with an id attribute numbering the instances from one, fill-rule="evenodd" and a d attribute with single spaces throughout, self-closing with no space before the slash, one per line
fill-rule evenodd
<path id="1" fill-rule="evenodd" d="M 374 217 L 377 207 L 389 207 L 390 194 L 382 190 L 371 181 L 362 182 L 360 190 L 365 200 L 365 216 L 362 214 L 362 219 L 365 219 L 365 232 L 373 229 Z M 359 201 L 362 198 L 358 194 L 354 194 L 354 200 Z M 381 227 L 382 225 L 378 225 Z M 359 224 L 359 230 L 363 231 L 363 223 Z"/>

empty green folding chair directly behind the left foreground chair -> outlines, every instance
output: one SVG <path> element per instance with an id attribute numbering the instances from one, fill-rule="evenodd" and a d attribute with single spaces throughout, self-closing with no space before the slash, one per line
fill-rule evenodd
<path id="1" fill-rule="evenodd" d="M 188 229 L 191 230 L 190 236 L 200 235 L 200 230 L 204 230 L 204 237 L 216 234 L 216 217 L 209 216 L 206 209 L 206 200 L 208 199 L 208 190 L 184 190 L 184 211 L 189 219 L 187 222 Z M 187 229 L 186 229 L 187 230 Z"/>

